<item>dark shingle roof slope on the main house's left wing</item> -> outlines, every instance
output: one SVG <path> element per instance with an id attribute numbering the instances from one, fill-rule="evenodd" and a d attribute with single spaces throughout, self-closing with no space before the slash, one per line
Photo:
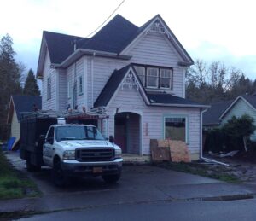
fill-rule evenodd
<path id="1" fill-rule="evenodd" d="M 44 38 L 49 50 L 50 61 L 59 64 L 64 61 L 74 51 L 74 42 L 77 42 L 77 47 L 81 47 L 89 40 L 89 38 L 81 38 L 77 36 L 60 34 L 55 32 L 44 31 Z"/>

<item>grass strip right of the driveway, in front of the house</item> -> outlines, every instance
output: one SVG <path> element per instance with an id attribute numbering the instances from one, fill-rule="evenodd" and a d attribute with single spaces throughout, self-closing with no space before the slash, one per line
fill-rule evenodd
<path id="1" fill-rule="evenodd" d="M 164 162 L 156 164 L 157 166 L 171 169 L 177 172 L 188 172 L 202 177 L 210 177 L 228 183 L 239 183 L 241 180 L 229 172 L 224 172 L 221 169 L 213 170 L 211 166 L 195 164 L 195 163 L 172 163 Z"/>

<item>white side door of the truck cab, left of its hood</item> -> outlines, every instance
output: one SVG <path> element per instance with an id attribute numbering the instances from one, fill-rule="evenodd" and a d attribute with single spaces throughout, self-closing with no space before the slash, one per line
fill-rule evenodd
<path id="1" fill-rule="evenodd" d="M 55 142 L 55 127 L 50 127 L 49 131 L 46 135 L 45 138 L 45 143 L 44 143 L 44 161 L 47 161 L 47 164 L 50 163 L 52 160 L 55 148 L 54 148 L 54 142 Z"/>

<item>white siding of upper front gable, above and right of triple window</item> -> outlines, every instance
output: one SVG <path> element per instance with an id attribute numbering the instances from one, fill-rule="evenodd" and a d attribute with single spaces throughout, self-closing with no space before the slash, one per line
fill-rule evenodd
<path id="1" fill-rule="evenodd" d="M 144 34 L 125 54 L 132 56 L 131 62 L 133 63 L 173 67 L 173 90 L 171 92 L 175 96 L 184 97 L 184 67 L 177 66 L 177 62 L 183 60 L 165 35 Z"/>

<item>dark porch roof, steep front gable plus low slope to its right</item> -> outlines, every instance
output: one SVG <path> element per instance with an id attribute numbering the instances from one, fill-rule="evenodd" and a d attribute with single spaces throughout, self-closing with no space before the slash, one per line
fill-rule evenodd
<path id="1" fill-rule="evenodd" d="M 115 70 L 113 74 L 108 79 L 107 84 L 105 84 L 101 94 L 97 97 L 96 102 L 94 103 L 94 107 L 106 107 L 113 97 L 114 93 L 118 90 L 119 85 L 122 84 L 125 75 L 132 70 L 137 79 L 137 83 L 139 84 L 139 89 L 143 96 L 143 100 L 147 105 L 150 106 L 163 106 L 163 107 L 189 107 L 189 108 L 208 108 L 207 105 L 201 105 L 197 102 L 191 102 L 188 99 L 184 99 L 178 96 L 172 96 L 167 93 L 152 93 L 144 90 L 141 81 L 137 77 L 136 70 L 132 67 L 132 65 L 128 65 L 119 70 Z"/>

